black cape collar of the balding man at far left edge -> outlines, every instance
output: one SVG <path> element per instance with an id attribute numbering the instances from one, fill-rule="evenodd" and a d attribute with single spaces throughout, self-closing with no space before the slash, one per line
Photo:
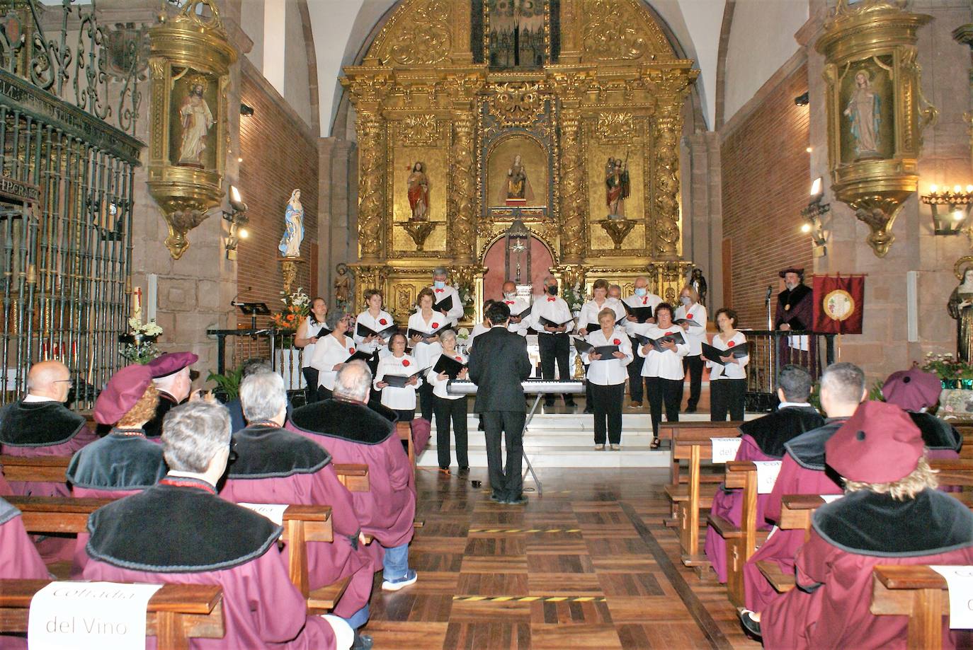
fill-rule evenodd
<path id="1" fill-rule="evenodd" d="M 0 442 L 11 447 L 48 447 L 67 442 L 85 418 L 59 401 L 18 401 L 0 411 Z"/>

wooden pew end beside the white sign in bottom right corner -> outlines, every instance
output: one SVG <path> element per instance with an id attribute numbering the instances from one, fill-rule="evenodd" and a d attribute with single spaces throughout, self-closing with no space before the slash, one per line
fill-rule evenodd
<path id="1" fill-rule="evenodd" d="M 924 564 L 878 565 L 872 571 L 876 616 L 908 616 L 909 650 L 943 647 L 943 617 L 950 613 L 946 579 Z"/>

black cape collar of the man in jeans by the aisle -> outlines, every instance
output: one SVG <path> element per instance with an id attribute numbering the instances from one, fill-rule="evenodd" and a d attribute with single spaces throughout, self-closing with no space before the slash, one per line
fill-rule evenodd
<path id="1" fill-rule="evenodd" d="M 384 406 L 381 409 L 378 411 L 358 402 L 325 399 L 294 409 L 291 422 L 308 433 L 378 445 L 395 434 L 394 412 Z M 388 413 L 392 414 L 392 419 Z"/>

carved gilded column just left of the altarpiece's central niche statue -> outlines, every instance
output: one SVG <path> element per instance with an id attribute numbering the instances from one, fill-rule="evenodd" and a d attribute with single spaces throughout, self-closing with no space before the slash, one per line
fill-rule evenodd
<path id="1" fill-rule="evenodd" d="M 468 109 L 453 112 L 447 221 L 450 253 L 457 265 L 472 264 L 476 253 L 473 128 L 473 116 Z"/>

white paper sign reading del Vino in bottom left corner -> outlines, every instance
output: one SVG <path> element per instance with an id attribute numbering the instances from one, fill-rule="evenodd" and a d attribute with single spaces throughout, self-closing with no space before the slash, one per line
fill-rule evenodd
<path id="1" fill-rule="evenodd" d="M 30 600 L 30 650 L 144 650 L 145 610 L 162 585 L 52 582 Z"/>

